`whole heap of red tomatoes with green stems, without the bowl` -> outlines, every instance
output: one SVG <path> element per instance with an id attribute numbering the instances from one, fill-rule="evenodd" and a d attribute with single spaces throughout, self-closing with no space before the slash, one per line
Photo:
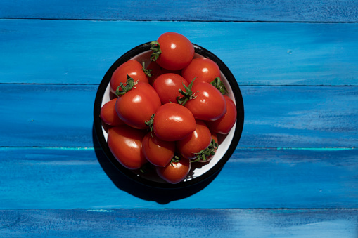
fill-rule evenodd
<path id="1" fill-rule="evenodd" d="M 108 147 L 128 169 L 147 165 L 179 183 L 193 162 L 208 163 L 236 122 L 219 66 L 194 58 L 191 41 L 175 32 L 151 42 L 150 63 L 128 60 L 110 79 L 113 99 L 101 107 Z"/>

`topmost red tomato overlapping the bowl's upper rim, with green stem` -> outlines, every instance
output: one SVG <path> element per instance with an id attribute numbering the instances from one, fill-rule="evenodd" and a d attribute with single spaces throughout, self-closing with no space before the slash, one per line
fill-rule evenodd
<path id="1" fill-rule="evenodd" d="M 151 60 L 167 70 L 181 70 L 190 64 L 194 57 L 194 47 L 184 35 L 166 32 L 151 42 Z"/>

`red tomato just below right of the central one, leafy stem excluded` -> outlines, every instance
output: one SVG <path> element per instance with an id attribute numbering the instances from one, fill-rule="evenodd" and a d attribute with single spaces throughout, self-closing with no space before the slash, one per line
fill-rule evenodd
<path id="1" fill-rule="evenodd" d="M 211 142 L 210 129 L 203 121 L 196 121 L 196 130 L 186 138 L 177 141 L 178 152 L 186 159 L 195 159 L 196 154 L 204 150 Z"/>

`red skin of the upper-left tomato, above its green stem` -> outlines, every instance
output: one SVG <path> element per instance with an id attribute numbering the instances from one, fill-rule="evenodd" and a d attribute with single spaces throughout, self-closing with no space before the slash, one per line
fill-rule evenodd
<path id="1" fill-rule="evenodd" d="M 113 72 L 110 78 L 110 91 L 114 93 L 120 83 L 125 84 L 127 82 L 127 75 L 132 77 L 134 81 L 142 81 L 148 84 L 148 77 L 144 73 L 141 63 L 136 60 L 128 60 Z"/>

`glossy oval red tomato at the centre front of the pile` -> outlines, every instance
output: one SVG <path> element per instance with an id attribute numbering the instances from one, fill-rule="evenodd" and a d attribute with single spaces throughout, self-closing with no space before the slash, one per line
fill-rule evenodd
<path id="1" fill-rule="evenodd" d="M 166 103 L 159 107 L 153 119 L 153 132 L 160 140 L 181 140 L 196 128 L 196 120 L 186 107 Z"/>

